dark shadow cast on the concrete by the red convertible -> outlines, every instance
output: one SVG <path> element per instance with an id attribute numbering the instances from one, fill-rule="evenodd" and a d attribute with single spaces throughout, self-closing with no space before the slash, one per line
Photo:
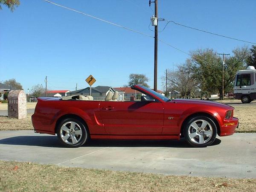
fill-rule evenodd
<path id="1" fill-rule="evenodd" d="M 215 139 L 212 145 L 218 145 L 221 140 Z M 5 145 L 28 145 L 40 147 L 63 148 L 57 137 L 54 136 L 17 136 L 0 140 Z M 89 140 L 82 147 L 172 147 L 192 148 L 184 138 L 180 140 Z"/>

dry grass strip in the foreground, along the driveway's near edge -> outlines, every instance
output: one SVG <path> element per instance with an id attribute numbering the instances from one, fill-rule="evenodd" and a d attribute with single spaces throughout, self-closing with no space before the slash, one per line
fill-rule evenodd
<path id="1" fill-rule="evenodd" d="M 0 161 L 0 191 L 255 191 L 256 179 L 189 177 Z"/>

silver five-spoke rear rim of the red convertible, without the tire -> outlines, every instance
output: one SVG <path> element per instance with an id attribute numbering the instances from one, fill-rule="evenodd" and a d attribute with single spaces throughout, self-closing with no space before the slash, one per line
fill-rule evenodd
<path id="1" fill-rule="evenodd" d="M 61 126 L 60 136 L 65 143 L 74 145 L 81 140 L 82 129 L 78 123 L 68 121 Z"/>

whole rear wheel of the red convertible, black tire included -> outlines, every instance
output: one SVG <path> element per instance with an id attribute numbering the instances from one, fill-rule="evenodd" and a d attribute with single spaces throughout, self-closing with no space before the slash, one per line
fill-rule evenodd
<path id="1" fill-rule="evenodd" d="M 58 124 L 57 135 L 62 145 L 75 148 L 88 140 L 89 131 L 79 119 L 67 118 Z"/>

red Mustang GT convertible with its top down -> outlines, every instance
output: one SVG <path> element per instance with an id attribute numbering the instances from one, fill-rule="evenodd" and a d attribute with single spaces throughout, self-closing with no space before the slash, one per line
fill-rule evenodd
<path id="1" fill-rule="evenodd" d="M 35 132 L 57 134 L 67 147 L 90 139 L 179 140 L 194 147 L 211 145 L 216 135 L 232 135 L 238 126 L 233 107 L 195 99 L 168 99 L 144 87 L 139 101 L 118 101 L 109 92 L 105 101 L 76 95 L 63 99 L 39 97 L 32 115 Z"/>

